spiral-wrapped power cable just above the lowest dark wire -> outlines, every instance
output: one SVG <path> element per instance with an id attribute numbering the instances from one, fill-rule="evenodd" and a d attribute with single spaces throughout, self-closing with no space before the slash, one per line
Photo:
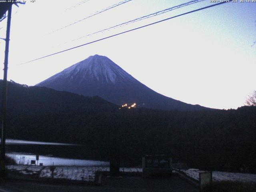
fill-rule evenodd
<path id="1" fill-rule="evenodd" d="M 88 36 L 91 36 L 91 35 L 94 35 L 94 34 L 97 34 L 97 33 L 100 33 L 100 32 L 104 32 L 106 30 L 110 30 L 110 29 L 115 29 L 117 27 L 121 27 L 121 26 L 124 26 L 124 25 L 128 25 L 128 24 L 131 24 L 131 23 L 134 23 L 134 22 L 137 22 L 137 21 L 140 21 L 140 20 L 144 20 L 144 19 L 147 19 L 147 18 L 150 18 L 150 17 L 154 17 L 154 16 L 157 16 L 157 15 L 160 15 L 160 14 L 164 14 L 166 12 L 169 12 L 169 11 L 172 11 L 172 10 L 175 10 L 175 9 L 178 9 L 178 8 L 181 8 L 181 7 L 184 7 L 184 6 L 188 6 L 188 5 L 191 5 L 191 4 L 194 4 L 194 3 L 198 3 L 198 2 L 201 2 L 201 1 L 205 1 L 205 0 L 193 0 L 193 1 L 190 1 L 190 2 L 187 2 L 187 3 L 183 3 L 183 4 L 180 4 L 180 5 L 177 5 L 177 6 L 173 6 L 173 7 L 170 7 L 170 8 L 167 8 L 167 9 L 164 9 L 164 10 L 161 10 L 161 11 L 158 11 L 158 12 L 155 12 L 155 13 L 152 13 L 152 14 L 148 14 L 146 16 L 142 16 L 140 18 L 136 18 L 134 20 L 130 20 L 128 22 L 124 22 L 124 23 L 121 23 L 121 24 L 118 24 L 116 26 L 112 26 L 110 28 L 106 28 L 106 29 L 103 29 L 103 30 L 100 30 L 100 31 L 97 31 L 97 32 L 94 32 L 94 33 L 91 33 L 91 34 L 88 34 L 88 35 L 85 35 L 85 36 L 82 36 L 82 37 L 79 37 L 79 38 L 76 38 L 76 39 L 73 39 L 71 41 L 75 41 L 75 40 L 78 40 L 78 39 L 81 39 L 81 38 L 84 38 L 84 37 L 88 37 Z"/>

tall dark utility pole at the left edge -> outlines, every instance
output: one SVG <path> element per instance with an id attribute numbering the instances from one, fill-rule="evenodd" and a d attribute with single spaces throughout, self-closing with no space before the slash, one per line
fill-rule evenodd
<path id="1" fill-rule="evenodd" d="M 5 54 L 4 54 L 4 79 L 2 85 L 2 116 L 1 116 L 1 146 L 0 146 L 0 177 L 5 176 L 5 136 L 6 136 L 6 98 L 7 98 L 7 70 L 8 70 L 8 55 L 10 42 L 10 27 L 11 27 L 12 4 L 8 8 L 7 29 L 5 38 Z"/>

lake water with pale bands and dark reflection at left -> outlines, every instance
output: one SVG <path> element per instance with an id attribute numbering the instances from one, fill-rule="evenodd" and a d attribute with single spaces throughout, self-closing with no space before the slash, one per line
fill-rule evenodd
<path id="1" fill-rule="evenodd" d="M 13 158 L 17 164 L 31 164 L 31 160 L 36 160 L 44 166 L 64 165 L 64 166 L 109 166 L 109 162 L 97 157 L 91 147 L 65 144 L 36 142 L 24 140 L 6 140 L 6 155 Z"/>

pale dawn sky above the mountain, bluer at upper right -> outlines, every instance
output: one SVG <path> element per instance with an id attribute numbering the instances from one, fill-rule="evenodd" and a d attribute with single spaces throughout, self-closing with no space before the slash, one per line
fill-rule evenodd
<path id="1" fill-rule="evenodd" d="M 58 30 L 122 0 L 27 0 L 13 6 L 8 80 L 33 86 L 99 54 L 165 96 L 190 104 L 229 109 L 256 90 L 256 3 L 230 2 L 36 60 L 125 30 L 212 5 L 184 6 L 126 26 L 80 38 L 186 0 L 131 0 Z M 78 5 L 80 4 L 80 5 Z M 6 19 L 0 22 L 5 37 Z M 58 30 L 58 31 L 55 31 Z M 54 32 L 55 31 L 55 32 Z M 4 41 L 0 40 L 4 62 Z M 2 78 L 3 72 L 0 73 Z"/>

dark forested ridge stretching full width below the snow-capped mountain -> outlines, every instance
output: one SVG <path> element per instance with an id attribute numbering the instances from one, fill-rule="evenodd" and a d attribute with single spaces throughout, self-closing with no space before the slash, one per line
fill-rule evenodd
<path id="1" fill-rule="evenodd" d="M 253 106 L 119 110 L 98 97 L 10 82 L 7 105 L 8 138 L 85 144 L 100 157 L 119 149 L 122 161 L 133 165 L 144 154 L 168 154 L 194 168 L 256 173 Z"/>

